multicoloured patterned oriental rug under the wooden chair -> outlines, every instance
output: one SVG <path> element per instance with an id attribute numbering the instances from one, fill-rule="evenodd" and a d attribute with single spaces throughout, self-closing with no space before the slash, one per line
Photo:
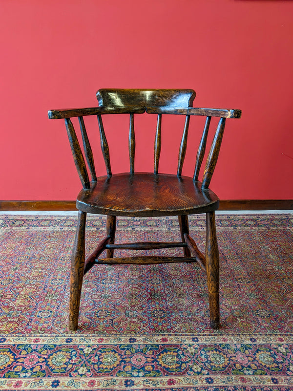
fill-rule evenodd
<path id="1" fill-rule="evenodd" d="M 203 272 L 182 263 L 94 266 L 71 333 L 76 217 L 0 216 L 0 390 L 293 390 L 293 216 L 216 221 L 220 330 L 209 327 Z M 190 218 L 202 251 L 204 226 Z M 89 254 L 105 217 L 87 227 Z M 120 218 L 117 241 L 134 241 L 134 230 L 141 241 L 180 241 L 174 218 Z"/>

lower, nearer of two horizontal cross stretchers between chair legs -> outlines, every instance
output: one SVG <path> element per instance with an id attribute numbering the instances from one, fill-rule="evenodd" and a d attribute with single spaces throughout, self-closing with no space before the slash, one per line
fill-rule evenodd
<path id="1" fill-rule="evenodd" d="M 141 257 L 124 257 L 124 258 L 99 258 L 97 264 L 105 265 L 154 265 L 157 263 L 178 263 L 178 262 L 196 262 L 195 258 L 187 257 L 155 257 L 155 256 L 141 256 Z"/>

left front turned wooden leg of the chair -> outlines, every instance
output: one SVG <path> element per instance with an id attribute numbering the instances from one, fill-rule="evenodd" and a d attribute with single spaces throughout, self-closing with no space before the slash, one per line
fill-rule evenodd
<path id="1" fill-rule="evenodd" d="M 85 257 L 85 221 L 86 213 L 79 211 L 74 246 L 71 256 L 70 298 L 69 298 L 69 329 L 78 327 L 79 307 L 84 277 Z"/>

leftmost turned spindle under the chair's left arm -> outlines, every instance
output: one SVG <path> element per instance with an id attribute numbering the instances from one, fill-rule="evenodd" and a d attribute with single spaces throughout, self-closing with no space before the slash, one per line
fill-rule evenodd
<path id="1" fill-rule="evenodd" d="M 70 118 L 65 118 L 65 126 L 67 130 L 67 135 L 74 159 L 75 166 L 77 168 L 80 180 L 82 182 L 84 189 L 90 189 L 88 174 L 86 171 L 86 166 L 84 162 L 83 152 L 81 150 L 78 138 L 76 136 L 73 124 Z"/>

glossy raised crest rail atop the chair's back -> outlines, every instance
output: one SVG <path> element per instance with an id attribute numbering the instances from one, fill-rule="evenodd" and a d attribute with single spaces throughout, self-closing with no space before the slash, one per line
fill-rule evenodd
<path id="1" fill-rule="evenodd" d="M 102 88 L 97 91 L 101 107 L 124 108 L 132 106 L 192 107 L 193 89 L 118 89 Z"/>

